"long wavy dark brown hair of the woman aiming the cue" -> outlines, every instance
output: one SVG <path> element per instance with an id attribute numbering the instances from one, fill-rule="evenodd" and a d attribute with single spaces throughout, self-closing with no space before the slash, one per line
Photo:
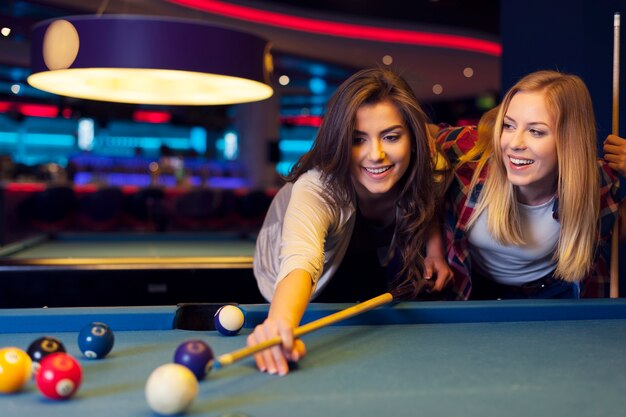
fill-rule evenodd
<path id="1" fill-rule="evenodd" d="M 401 191 L 396 200 L 394 243 L 390 253 L 398 250 L 402 268 L 393 284 L 399 284 L 402 278 L 402 283 L 421 284 L 427 227 L 440 200 L 443 180 L 434 180 L 438 154 L 427 129 L 428 117 L 402 77 L 388 69 L 372 68 L 361 70 L 344 81 L 328 102 L 313 147 L 296 162 L 287 180 L 295 181 L 308 170 L 317 168 L 322 173 L 330 201 L 343 205 L 356 202 L 350 174 L 356 113 L 362 105 L 383 101 L 396 107 L 411 137 L 409 168 L 399 183 Z"/>

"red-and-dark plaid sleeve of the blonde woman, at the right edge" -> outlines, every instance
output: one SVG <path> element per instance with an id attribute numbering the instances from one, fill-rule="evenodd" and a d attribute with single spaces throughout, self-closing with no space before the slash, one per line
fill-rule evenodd
<path id="1" fill-rule="evenodd" d="M 598 224 L 598 247 L 592 269 L 581 282 L 581 296 L 609 296 L 609 260 L 611 234 L 619 209 L 619 179 L 603 160 L 598 160 L 600 173 L 600 218 Z"/>

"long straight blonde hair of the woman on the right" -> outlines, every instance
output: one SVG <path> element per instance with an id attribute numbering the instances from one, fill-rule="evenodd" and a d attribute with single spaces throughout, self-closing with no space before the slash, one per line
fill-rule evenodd
<path id="1" fill-rule="evenodd" d="M 502 159 L 502 120 L 518 92 L 539 92 L 555 120 L 558 159 L 559 241 L 554 253 L 555 276 L 566 281 L 582 279 L 590 270 L 596 249 L 600 189 L 596 154 L 596 128 L 591 96 L 575 75 L 538 71 L 527 75 L 504 96 L 491 139 L 478 159 L 470 185 L 476 186 L 485 166 L 483 191 L 468 222 L 471 227 L 488 207 L 487 226 L 493 238 L 505 245 L 524 243 L 513 185 Z"/>

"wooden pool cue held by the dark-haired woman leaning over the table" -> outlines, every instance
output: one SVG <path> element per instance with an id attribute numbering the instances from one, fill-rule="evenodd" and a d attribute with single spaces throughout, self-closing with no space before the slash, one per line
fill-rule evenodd
<path id="1" fill-rule="evenodd" d="M 341 320 L 356 316 L 357 314 L 372 310 L 376 307 L 389 304 L 393 301 L 399 301 L 403 296 L 411 293 L 413 291 L 413 288 L 413 285 L 404 285 L 402 287 L 396 288 L 395 290 L 371 298 L 367 301 L 363 301 L 362 303 L 355 304 L 352 307 L 346 308 L 345 310 L 338 311 L 310 323 L 296 327 L 293 331 L 293 337 L 294 339 L 297 339 L 300 336 L 321 329 L 322 327 L 329 326 Z M 230 365 L 240 359 L 254 355 L 255 353 L 258 353 L 272 346 L 280 345 L 281 343 L 282 339 L 280 338 L 280 336 L 276 336 L 264 342 L 261 342 L 258 345 L 244 347 L 230 353 L 225 353 L 215 359 L 215 361 L 213 362 L 213 367 L 217 369 Z"/>

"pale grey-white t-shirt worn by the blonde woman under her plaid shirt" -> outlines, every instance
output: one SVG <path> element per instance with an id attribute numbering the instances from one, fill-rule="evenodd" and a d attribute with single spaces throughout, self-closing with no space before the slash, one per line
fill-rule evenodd
<path id="1" fill-rule="evenodd" d="M 556 269 L 552 256 L 561 230 L 552 216 L 553 206 L 554 198 L 538 206 L 519 204 L 526 241 L 523 246 L 496 242 L 487 229 L 488 209 L 483 210 L 468 233 L 472 271 L 500 284 L 515 286 L 552 273 Z"/>

